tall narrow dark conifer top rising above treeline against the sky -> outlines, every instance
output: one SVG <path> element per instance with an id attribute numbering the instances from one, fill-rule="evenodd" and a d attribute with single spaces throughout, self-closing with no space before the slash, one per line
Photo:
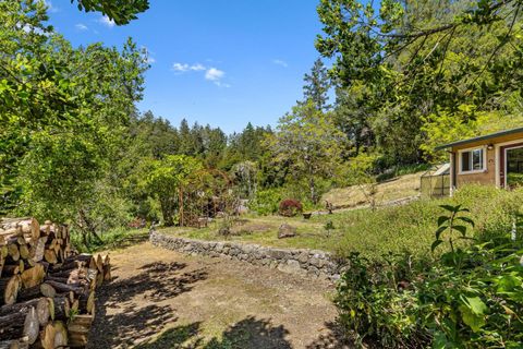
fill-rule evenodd
<path id="1" fill-rule="evenodd" d="M 304 100 L 312 100 L 318 110 L 329 109 L 327 93 L 331 84 L 324 61 L 318 58 L 314 62 L 311 74 L 305 74 L 303 80 L 305 82 L 303 86 Z"/>

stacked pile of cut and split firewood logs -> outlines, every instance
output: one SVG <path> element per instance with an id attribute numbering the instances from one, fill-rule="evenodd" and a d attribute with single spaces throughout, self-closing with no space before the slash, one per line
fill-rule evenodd
<path id="1" fill-rule="evenodd" d="M 110 269 L 72 249 L 68 226 L 0 219 L 0 349 L 85 347 Z"/>

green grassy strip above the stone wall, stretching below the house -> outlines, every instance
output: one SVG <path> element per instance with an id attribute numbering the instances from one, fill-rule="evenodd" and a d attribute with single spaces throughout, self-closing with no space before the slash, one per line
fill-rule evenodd
<path id="1" fill-rule="evenodd" d="M 353 209 L 313 216 L 309 220 L 301 217 L 245 217 L 240 225 L 234 226 L 236 234 L 228 240 L 276 248 L 317 249 L 342 256 L 360 252 L 370 258 L 388 252 L 404 251 L 427 255 L 430 253 L 437 218 L 445 214 L 439 205 L 462 204 L 470 208 L 470 217 L 476 221 L 474 236 L 488 240 L 510 231 L 513 214 L 521 210 L 522 203 L 523 190 L 507 192 L 472 185 L 463 188 L 452 198 L 419 200 L 376 212 Z M 325 229 L 329 220 L 335 226 L 330 234 Z M 296 227 L 296 237 L 277 238 L 278 228 L 284 222 Z M 203 229 L 166 228 L 160 231 L 191 239 L 226 240 L 218 233 L 218 229 L 219 221 Z"/>

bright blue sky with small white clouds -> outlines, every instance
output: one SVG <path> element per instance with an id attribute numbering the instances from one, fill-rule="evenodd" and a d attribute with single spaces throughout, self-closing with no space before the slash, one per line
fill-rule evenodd
<path id="1" fill-rule="evenodd" d="M 49 3 L 49 1 L 47 1 Z M 69 0 L 50 2 L 50 23 L 73 45 L 121 47 L 131 36 L 150 53 L 142 111 L 178 124 L 276 124 L 302 97 L 318 57 L 317 0 L 150 0 L 137 21 L 115 26 Z"/>

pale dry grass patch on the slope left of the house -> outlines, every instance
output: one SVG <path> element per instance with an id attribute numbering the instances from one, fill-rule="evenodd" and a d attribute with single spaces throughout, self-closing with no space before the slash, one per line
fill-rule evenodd
<path id="1" fill-rule="evenodd" d="M 376 203 L 379 205 L 389 201 L 418 195 L 419 182 L 423 173 L 425 172 L 405 174 L 382 183 L 378 183 Z M 332 203 L 335 206 L 361 206 L 367 203 L 367 198 L 364 194 L 365 191 L 368 192 L 368 185 L 353 185 L 341 189 L 332 189 L 324 195 L 323 200 Z"/>

